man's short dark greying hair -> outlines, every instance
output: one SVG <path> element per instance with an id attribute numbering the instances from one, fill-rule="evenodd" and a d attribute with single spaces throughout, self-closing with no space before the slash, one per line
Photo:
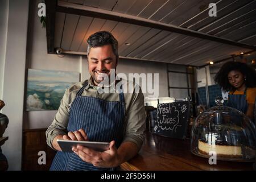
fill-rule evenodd
<path id="1" fill-rule="evenodd" d="M 88 43 L 87 57 L 89 55 L 90 48 L 111 45 L 114 55 L 115 57 L 117 57 L 117 60 L 118 60 L 118 42 L 117 42 L 117 39 L 115 39 L 110 32 L 108 31 L 96 32 L 89 36 L 89 38 L 87 39 L 87 43 Z"/>

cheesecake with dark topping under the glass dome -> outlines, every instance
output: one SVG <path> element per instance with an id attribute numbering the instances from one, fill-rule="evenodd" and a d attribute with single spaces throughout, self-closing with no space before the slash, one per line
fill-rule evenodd
<path id="1" fill-rule="evenodd" d="M 199 152 L 204 155 L 209 155 L 210 151 L 216 152 L 216 155 L 219 157 L 228 157 L 228 158 L 241 158 L 242 149 L 241 146 L 232 146 L 228 145 L 226 142 L 210 142 L 199 140 L 198 148 Z"/>

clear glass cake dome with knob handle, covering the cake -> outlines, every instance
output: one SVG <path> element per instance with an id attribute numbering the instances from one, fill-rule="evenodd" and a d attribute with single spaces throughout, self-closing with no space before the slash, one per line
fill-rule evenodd
<path id="1" fill-rule="evenodd" d="M 193 123 L 191 152 L 217 160 L 254 161 L 255 125 L 241 111 L 223 106 L 221 97 L 217 106 L 201 113 Z"/>

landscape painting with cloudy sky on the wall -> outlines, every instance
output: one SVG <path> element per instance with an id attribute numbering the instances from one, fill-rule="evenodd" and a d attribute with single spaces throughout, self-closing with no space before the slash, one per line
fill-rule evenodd
<path id="1" fill-rule="evenodd" d="M 28 69 L 26 110 L 59 109 L 65 89 L 79 81 L 79 72 Z"/>

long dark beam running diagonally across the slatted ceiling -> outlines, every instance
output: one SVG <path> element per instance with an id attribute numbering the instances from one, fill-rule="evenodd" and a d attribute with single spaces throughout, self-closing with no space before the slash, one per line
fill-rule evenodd
<path id="1" fill-rule="evenodd" d="M 94 17 L 94 18 L 109 19 L 109 20 L 114 20 L 116 22 L 137 24 L 139 26 L 156 28 L 159 30 L 175 32 L 177 34 L 193 36 L 196 38 L 210 40 L 210 41 L 214 41 L 214 42 L 218 42 L 218 43 L 222 43 L 222 44 L 228 44 L 228 45 L 232 45 L 232 46 L 256 50 L 256 46 L 251 46 L 249 44 L 240 43 L 240 42 L 236 42 L 236 41 L 225 39 L 225 38 L 220 38 L 220 37 L 209 35 L 209 34 L 204 34 L 203 32 L 190 30 L 188 28 L 178 27 L 178 26 L 174 26 L 172 24 L 157 22 L 154 20 L 141 18 L 138 16 L 97 9 L 94 7 L 89 7 L 89 6 L 84 6 L 84 5 L 77 5 L 74 3 L 69 3 L 69 2 L 64 2 L 64 1 L 58 1 L 56 11 L 61 12 L 61 13 L 90 16 L 90 17 Z"/>

